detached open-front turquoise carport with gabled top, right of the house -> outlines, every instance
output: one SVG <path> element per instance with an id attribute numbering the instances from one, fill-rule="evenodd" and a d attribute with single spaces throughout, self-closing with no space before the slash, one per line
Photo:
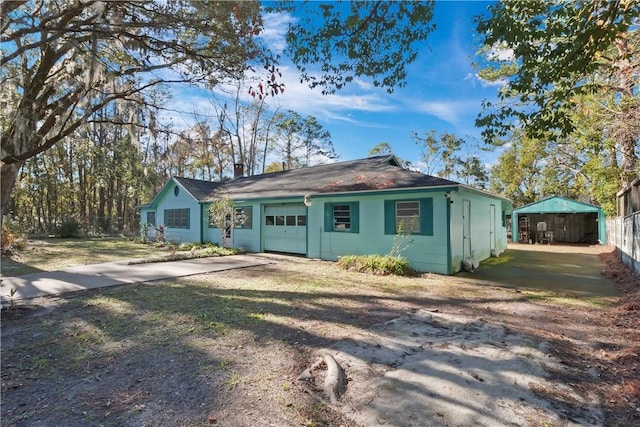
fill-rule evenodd
<path id="1" fill-rule="evenodd" d="M 602 208 L 551 196 L 513 210 L 515 243 L 606 243 Z"/>

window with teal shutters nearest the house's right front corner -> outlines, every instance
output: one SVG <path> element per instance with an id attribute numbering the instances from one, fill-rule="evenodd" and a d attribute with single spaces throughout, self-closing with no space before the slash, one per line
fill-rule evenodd
<path id="1" fill-rule="evenodd" d="M 384 234 L 403 232 L 433 236 L 433 198 L 384 201 Z"/>

